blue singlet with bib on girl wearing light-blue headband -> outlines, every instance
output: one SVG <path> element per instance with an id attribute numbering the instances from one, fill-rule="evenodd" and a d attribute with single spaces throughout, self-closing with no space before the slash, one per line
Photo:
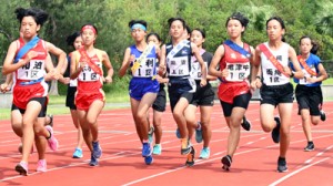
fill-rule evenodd
<path id="1" fill-rule="evenodd" d="M 135 46 L 135 44 L 130 46 L 131 49 L 131 55 L 134 55 L 135 59 L 139 59 L 142 54 L 141 51 L 139 51 Z M 152 50 L 148 53 L 145 56 L 145 61 L 141 62 L 139 69 L 135 72 L 132 72 L 132 75 L 134 78 L 152 78 L 157 74 L 157 52 L 155 48 L 153 46 Z M 131 66 L 133 65 L 133 62 L 131 62 Z"/>

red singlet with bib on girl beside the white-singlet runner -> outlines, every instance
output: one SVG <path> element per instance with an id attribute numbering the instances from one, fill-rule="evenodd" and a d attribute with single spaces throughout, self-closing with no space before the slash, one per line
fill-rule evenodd
<path id="1" fill-rule="evenodd" d="M 224 79 L 226 82 L 243 82 L 250 75 L 250 59 L 223 44 L 224 56 L 220 61 L 220 69 L 228 69 L 229 75 Z M 244 50 L 250 51 L 249 44 L 244 43 Z"/>

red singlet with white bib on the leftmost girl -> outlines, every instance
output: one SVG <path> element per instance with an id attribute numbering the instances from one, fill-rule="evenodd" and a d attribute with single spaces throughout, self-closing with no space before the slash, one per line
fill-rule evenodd
<path id="1" fill-rule="evenodd" d="M 24 41 L 22 38 L 17 40 L 18 44 L 18 51 L 24 45 Z M 38 53 L 38 55 L 30 60 L 27 64 L 21 66 L 16 71 L 16 79 L 18 81 L 33 81 L 42 79 L 46 75 L 46 59 L 47 59 L 47 50 L 46 50 L 46 42 L 43 40 L 40 40 L 34 48 L 32 48 L 30 51 L 34 51 Z M 16 54 L 17 54 L 16 53 Z M 28 52 L 27 52 L 28 53 Z M 24 59 L 27 53 L 21 58 Z"/>

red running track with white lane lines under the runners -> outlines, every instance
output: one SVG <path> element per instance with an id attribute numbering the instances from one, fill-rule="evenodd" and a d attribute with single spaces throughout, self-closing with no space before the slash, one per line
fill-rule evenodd
<path id="1" fill-rule="evenodd" d="M 242 131 L 230 172 L 221 168 L 220 159 L 225 155 L 229 128 L 218 104 L 214 105 L 211 120 L 211 157 L 196 159 L 193 167 L 185 167 L 185 156 L 180 155 L 180 140 L 174 134 L 175 124 L 170 108 L 162 121 L 163 152 L 154 156 L 152 165 L 145 165 L 141 156 L 141 144 L 131 111 L 122 108 L 105 111 L 99 117 L 100 144 L 103 149 L 99 166 L 88 165 L 90 153 L 85 146 L 82 159 L 71 158 L 77 132 L 70 115 L 57 115 L 54 131 L 60 148 L 56 153 L 48 151 L 47 173 L 36 172 L 38 157 L 33 153 L 28 176 L 14 172 L 20 161 L 17 151 L 20 140 L 13 134 L 9 121 L 0 121 L 0 185 L 332 185 L 333 102 L 326 102 L 324 110 L 327 120 L 312 127 L 315 151 L 303 152 L 306 140 L 294 104 L 287 173 L 276 172 L 279 145 L 261 130 L 256 102 L 251 103 L 246 112 L 252 130 Z M 198 156 L 202 144 L 195 144 L 194 141 L 193 144 Z"/>

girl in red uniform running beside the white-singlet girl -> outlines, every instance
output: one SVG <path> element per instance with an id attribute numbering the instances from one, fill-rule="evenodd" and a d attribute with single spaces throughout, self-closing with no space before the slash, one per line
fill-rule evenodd
<path id="1" fill-rule="evenodd" d="M 228 18 L 225 27 L 230 40 L 218 48 L 209 68 L 211 75 L 222 79 L 218 94 L 230 128 L 226 155 L 221 159 L 225 170 L 229 170 L 239 145 L 240 126 L 252 96 L 248 79 L 254 50 L 242 41 L 248 23 L 248 18 L 239 12 Z M 218 65 L 220 71 L 216 70 Z"/>

